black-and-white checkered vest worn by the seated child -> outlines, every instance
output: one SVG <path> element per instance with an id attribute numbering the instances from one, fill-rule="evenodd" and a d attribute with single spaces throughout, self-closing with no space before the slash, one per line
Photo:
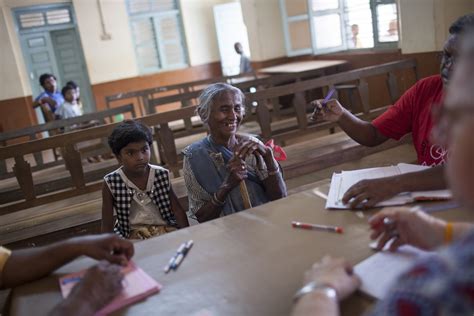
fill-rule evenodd
<path id="1" fill-rule="evenodd" d="M 150 165 L 150 168 L 155 171 L 155 181 L 153 182 L 153 189 L 147 191 L 146 194 L 158 206 L 161 217 L 166 223 L 170 226 L 176 226 L 176 218 L 171 210 L 169 172 L 159 166 Z M 130 236 L 130 206 L 135 190 L 126 185 L 118 169 L 106 175 L 104 180 L 114 197 L 114 210 L 117 214 L 114 232 L 121 237 L 128 238 Z"/>

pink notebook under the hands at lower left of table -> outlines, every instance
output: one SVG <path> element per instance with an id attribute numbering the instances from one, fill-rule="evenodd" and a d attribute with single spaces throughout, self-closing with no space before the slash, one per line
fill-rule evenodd
<path id="1" fill-rule="evenodd" d="M 124 278 L 122 281 L 123 290 L 112 302 L 96 313 L 107 315 L 124 306 L 138 302 L 152 294 L 158 293 L 162 286 L 153 280 L 142 269 L 137 267 L 132 261 L 122 270 Z M 61 293 L 66 298 L 72 288 L 82 279 L 86 270 L 65 275 L 59 279 Z"/>

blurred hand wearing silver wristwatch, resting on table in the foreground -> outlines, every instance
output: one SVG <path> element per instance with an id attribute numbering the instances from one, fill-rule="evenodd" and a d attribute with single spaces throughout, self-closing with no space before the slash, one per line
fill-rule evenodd
<path id="1" fill-rule="evenodd" d="M 343 300 L 360 286 L 360 279 L 352 272 L 352 266 L 344 259 L 325 256 L 305 273 L 305 283 L 330 286 L 336 290 L 337 298 Z"/>

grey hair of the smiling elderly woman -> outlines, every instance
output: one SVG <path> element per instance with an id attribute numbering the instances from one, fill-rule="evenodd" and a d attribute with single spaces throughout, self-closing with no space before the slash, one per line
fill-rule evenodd
<path id="1" fill-rule="evenodd" d="M 227 83 L 214 83 L 204 89 L 199 95 L 199 105 L 196 113 L 201 118 L 204 125 L 208 126 L 209 116 L 211 115 L 212 104 L 214 99 L 219 97 L 224 92 L 233 92 L 240 95 L 242 98 L 242 115 L 245 114 L 245 95 L 240 89 L 231 86 Z"/>

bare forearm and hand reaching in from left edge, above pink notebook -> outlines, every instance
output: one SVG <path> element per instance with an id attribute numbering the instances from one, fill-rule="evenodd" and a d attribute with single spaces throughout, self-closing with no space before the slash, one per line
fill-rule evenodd
<path id="1" fill-rule="evenodd" d="M 107 234 L 77 237 L 45 247 L 16 250 L 5 263 L 0 288 L 11 288 L 42 278 L 81 255 L 123 265 L 133 256 L 133 244 Z"/>

